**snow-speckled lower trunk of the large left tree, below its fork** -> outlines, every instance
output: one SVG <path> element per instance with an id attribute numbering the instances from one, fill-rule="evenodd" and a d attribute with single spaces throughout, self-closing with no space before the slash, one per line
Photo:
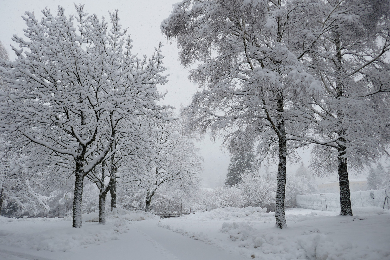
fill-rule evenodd
<path id="1" fill-rule="evenodd" d="M 73 223 L 72 227 L 81 228 L 82 227 L 82 197 L 83 197 L 83 181 L 84 174 L 82 172 L 83 165 L 80 166 L 79 163 L 76 162 L 76 172 L 74 175 L 76 179 L 74 181 L 74 196 L 73 196 Z"/>

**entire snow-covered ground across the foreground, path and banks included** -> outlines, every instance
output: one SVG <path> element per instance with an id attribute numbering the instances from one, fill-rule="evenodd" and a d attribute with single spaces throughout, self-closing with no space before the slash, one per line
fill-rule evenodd
<path id="1" fill-rule="evenodd" d="M 223 208 L 180 218 L 145 212 L 108 214 L 107 224 L 69 219 L 0 218 L 0 259 L 316 259 L 390 260 L 390 214 L 354 208 L 353 217 L 286 210 L 286 229 L 261 208 Z M 97 214 L 84 215 L 84 221 Z"/>

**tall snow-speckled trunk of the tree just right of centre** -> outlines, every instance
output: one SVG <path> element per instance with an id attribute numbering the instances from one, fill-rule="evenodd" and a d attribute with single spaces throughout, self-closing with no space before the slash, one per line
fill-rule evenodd
<path id="1" fill-rule="evenodd" d="M 279 143 L 279 164 L 278 164 L 278 176 L 277 176 L 277 190 L 275 200 L 275 220 L 278 228 L 284 228 L 287 226 L 286 218 L 284 215 L 284 193 L 286 189 L 286 165 L 287 165 L 287 143 L 286 132 L 284 127 L 283 112 L 284 102 L 283 96 L 280 95 L 278 101 L 278 143 Z"/>

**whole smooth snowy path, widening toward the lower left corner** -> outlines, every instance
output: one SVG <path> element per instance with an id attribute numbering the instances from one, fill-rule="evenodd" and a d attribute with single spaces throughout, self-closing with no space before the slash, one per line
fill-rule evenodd
<path id="1" fill-rule="evenodd" d="M 127 233 L 100 245 L 66 252 L 0 246 L 1 260 L 241 260 L 215 246 L 157 226 L 158 220 L 132 221 Z"/>

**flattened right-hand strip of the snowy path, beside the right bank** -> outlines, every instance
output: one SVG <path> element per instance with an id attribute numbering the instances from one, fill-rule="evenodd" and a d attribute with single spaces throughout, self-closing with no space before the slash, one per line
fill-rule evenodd
<path id="1" fill-rule="evenodd" d="M 133 225 L 149 235 L 163 248 L 167 249 L 179 260 L 240 260 L 241 256 L 232 255 L 226 251 L 219 250 L 215 246 L 205 242 L 191 239 L 182 234 L 175 233 L 166 228 L 157 226 L 158 221 L 137 221 Z"/>

